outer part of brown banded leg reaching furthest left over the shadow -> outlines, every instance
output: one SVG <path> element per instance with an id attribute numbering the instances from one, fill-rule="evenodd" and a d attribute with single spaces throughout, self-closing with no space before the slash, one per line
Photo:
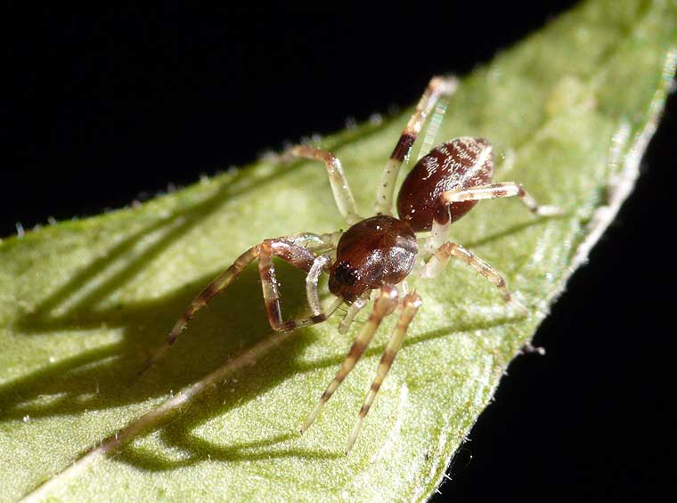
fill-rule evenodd
<path id="1" fill-rule="evenodd" d="M 249 250 L 235 259 L 235 262 L 233 262 L 228 269 L 219 274 L 215 280 L 209 283 L 208 286 L 193 299 L 192 303 L 189 304 L 184 311 L 184 314 L 181 315 L 181 318 L 176 321 L 172 331 L 169 332 L 169 337 L 167 337 L 165 344 L 161 345 L 155 353 L 152 353 L 151 357 L 143 363 L 143 367 L 138 371 L 138 375 L 143 374 L 143 372 L 149 369 L 153 363 L 158 361 L 164 353 L 167 353 L 169 347 L 176 342 L 176 338 L 184 331 L 186 325 L 188 325 L 188 321 L 192 320 L 195 313 L 200 311 L 200 309 L 206 306 L 212 298 L 222 292 L 233 280 L 240 276 L 241 272 L 257 258 L 260 249 L 261 245 L 250 247 Z"/>

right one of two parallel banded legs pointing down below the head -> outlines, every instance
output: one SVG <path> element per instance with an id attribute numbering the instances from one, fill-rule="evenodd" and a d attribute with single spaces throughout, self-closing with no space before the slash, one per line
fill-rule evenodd
<path id="1" fill-rule="evenodd" d="M 357 416 L 355 427 L 353 428 L 350 437 L 348 437 L 346 454 L 353 449 L 355 441 L 357 440 L 357 435 L 360 434 L 360 430 L 362 429 L 364 418 L 371 409 L 371 404 L 374 402 L 376 393 L 379 393 L 380 385 L 383 383 L 383 379 L 386 378 L 388 370 L 390 370 L 390 367 L 393 365 L 397 352 L 402 347 L 404 336 L 406 335 L 409 325 L 412 323 L 413 317 L 416 315 L 416 312 L 419 311 L 421 304 L 420 296 L 415 292 L 407 294 L 404 296 L 403 304 L 404 307 L 400 313 L 400 318 L 397 320 L 396 328 L 388 339 L 386 350 L 383 352 L 383 356 L 381 356 L 381 360 L 379 361 L 376 377 L 374 377 L 369 393 L 367 393 L 367 397 L 364 399 L 364 404 Z"/>

